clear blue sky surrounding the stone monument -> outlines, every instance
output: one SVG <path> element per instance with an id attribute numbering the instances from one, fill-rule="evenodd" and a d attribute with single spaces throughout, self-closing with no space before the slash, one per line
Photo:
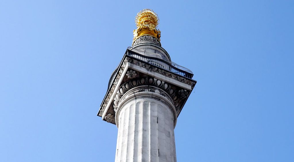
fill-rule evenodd
<path id="1" fill-rule="evenodd" d="M 175 128 L 178 162 L 294 159 L 294 1 L 1 1 L 0 161 L 112 162 L 96 116 L 134 17 L 194 72 Z"/>

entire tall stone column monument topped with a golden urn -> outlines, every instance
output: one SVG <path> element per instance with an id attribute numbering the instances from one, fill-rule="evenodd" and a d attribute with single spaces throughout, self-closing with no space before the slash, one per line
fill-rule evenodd
<path id="1" fill-rule="evenodd" d="M 118 127 L 116 162 L 176 162 L 174 128 L 196 81 L 161 47 L 158 21 L 153 10 L 137 14 L 97 114 Z"/>

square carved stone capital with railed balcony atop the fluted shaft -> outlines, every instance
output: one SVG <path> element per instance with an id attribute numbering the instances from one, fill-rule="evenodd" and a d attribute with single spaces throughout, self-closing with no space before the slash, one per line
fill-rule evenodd
<path id="1" fill-rule="evenodd" d="M 97 115 L 116 124 L 114 116 L 121 97 L 134 87 L 153 86 L 169 96 L 166 99 L 173 104 L 178 116 L 196 84 L 192 77 L 190 71 L 179 69 L 165 60 L 127 50 L 120 65 L 111 75 L 107 93 Z"/>

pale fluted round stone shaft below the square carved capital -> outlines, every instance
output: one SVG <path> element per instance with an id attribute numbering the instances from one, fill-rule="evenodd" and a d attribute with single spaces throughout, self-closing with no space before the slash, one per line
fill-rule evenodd
<path id="1" fill-rule="evenodd" d="M 176 110 L 158 87 L 128 90 L 118 103 L 116 162 L 176 162 Z"/>

